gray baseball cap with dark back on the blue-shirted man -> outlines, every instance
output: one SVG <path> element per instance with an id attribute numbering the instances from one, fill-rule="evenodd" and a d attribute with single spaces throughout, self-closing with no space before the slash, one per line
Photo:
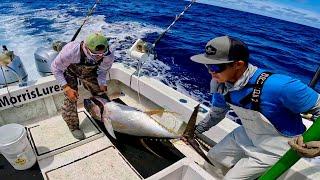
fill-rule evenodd
<path id="1" fill-rule="evenodd" d="M 234 61 L 248 61 L 249 49 L 245 43 L 229 36 L 210 40 L 204 54 L 194 55 L 192 61 L 201 64 L 225 64 Z"/>

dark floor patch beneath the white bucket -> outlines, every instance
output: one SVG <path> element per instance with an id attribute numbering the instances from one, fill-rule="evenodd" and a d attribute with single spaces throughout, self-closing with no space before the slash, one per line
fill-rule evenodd
<path id="1" fill-rule="evenodd" d="M 43 179 L 38 163 L 28 170 L 15 170 L 3 155 L 0 155 L 0 179 L 19 180 L 19 179 Z"/>

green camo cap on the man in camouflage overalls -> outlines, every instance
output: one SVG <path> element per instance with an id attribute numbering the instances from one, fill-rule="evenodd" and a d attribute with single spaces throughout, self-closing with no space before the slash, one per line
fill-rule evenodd
<path id="1" fill-rule="evenodd" d="M 91 52 L 100 50 L 107 50 L 109 47 L 108 39 L 101 33 L 92 33 L 85 40 L 86 46 Z M 104 47 L 104 49 L 98 49 L 97 47 Z"/>

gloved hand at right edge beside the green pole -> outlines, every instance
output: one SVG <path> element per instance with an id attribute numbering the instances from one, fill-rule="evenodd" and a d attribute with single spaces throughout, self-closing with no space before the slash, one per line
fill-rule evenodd
<path id="1" fill-rule="evenodd" d="M 303 142 L 303 137 L 299 136 L 288 142 L 293 150 L 300 156 L 312 158 L 320 156 L 320 141 Z"/>

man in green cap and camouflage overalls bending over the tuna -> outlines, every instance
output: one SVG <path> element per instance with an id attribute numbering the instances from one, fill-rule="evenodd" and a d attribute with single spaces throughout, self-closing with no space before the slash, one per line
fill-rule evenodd
<path id="1" fill-rule="evenodd" d="M 106 74 L 113 61 L 108 39 L 100 33 L 93 33 L 84 42 L 73 41 L 66 44 L 51 64 L 51 70 L 65 94 L 62 117 L 77 139 L 85 138 L 79 128 L 77 78 L 93 96 L 102 95 L 107 98 Z"/>

